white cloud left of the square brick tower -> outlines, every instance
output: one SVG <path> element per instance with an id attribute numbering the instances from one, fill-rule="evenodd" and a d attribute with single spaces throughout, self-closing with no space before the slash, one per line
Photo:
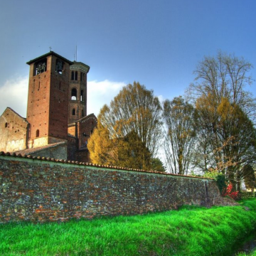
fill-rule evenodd
<path id="1" fill-rule="evenodd" d="M 6 107 L 11 107 L 15 112 L 26 117 L 28 100 L 28 77 L 19 77 L 6 80 L 0 86 L 0 114 Z"/>

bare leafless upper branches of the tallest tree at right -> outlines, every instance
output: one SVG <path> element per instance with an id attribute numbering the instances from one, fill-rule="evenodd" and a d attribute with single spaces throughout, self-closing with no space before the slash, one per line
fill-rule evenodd
<path id="1" fill-rule="evenodd" d="M 220 104 L 223 97 L 230 104 L 238 105 L 251 119 L 255 118 L 255 98 L 246 90 L 252 84 L 252 64 L 244 58 L 228 55 L 221 51 L 215 57 L 205 57 L 194 74 L 195 83 L 186 90 L 186 96 L 195 104 L 198 97 L 212 95 Z"/>

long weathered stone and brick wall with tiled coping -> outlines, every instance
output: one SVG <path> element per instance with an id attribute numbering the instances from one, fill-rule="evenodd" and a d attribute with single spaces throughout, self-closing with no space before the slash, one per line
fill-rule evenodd
<path id="1" fill-rule="evenodd" d="M 219 196 L 213 179 L 0 153 L 0 223 L 133 215 Z"/>

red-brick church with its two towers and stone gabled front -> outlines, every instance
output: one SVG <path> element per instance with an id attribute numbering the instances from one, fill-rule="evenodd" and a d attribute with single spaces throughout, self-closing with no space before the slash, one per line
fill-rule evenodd
<path id="1" fill-rule="evenodd" d="M 97 125 L 87 115 L 85 63 L 50 51 L 30 66 L 26 118 L 7 107 L 0 117 L 0 151 L 90 161 L 87 140 Z"/>

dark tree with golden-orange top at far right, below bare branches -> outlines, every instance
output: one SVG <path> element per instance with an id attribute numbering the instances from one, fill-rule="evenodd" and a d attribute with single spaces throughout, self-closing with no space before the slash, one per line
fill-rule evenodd
<path id="1" fill-rule="evenodd" d="M 225 174 L 233 186 L 240 190 L 242 166 L 253 164 L 256 156 L 256 132 L 252 121 L 239 105 L 223 98 L 218 107 L 220 138 L 223 140 Z"/>

